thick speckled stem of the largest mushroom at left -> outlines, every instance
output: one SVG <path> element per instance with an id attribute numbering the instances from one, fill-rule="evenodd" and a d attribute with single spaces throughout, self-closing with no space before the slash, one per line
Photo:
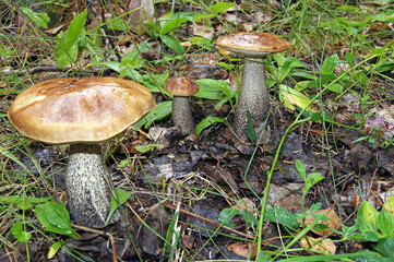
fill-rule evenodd
<path id="1" fill-rule="evenodd" d="M 70 145 L 65 186 L 70 214 L 77 224 L 88 227 L 105 224 L 110 210 L 109 179 L 99 144 Z"/>

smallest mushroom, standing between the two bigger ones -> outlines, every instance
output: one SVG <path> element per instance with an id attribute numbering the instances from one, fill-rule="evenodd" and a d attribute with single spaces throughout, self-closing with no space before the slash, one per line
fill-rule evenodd
<path id="1" fill-rule="evenodd" d="M 166 83 L 166 91 L 174 95 L 172 121 L 183 134 L 194 132 L 194 119 L 190 109 L 189 96 L 198 93 L 199 84 L 190 78 L 174 78 Z"/>

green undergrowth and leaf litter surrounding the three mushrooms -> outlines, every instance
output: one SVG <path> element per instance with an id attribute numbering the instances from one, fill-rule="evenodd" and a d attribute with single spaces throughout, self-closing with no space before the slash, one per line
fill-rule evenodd
<path id="1" fill-rule="evenodd" d="M 255 261 L 393 260 L 394 1 L 4 0 L 0 8 L 2 261 L 196 261 L 232 254 Z M 218 50 L 215 39 L 250 31 L 292 45 L 264 61 L 275 119 L 266 126 L 278 132 L 248 130 L 248 141 L 235 138 L 226 147 L 242 63 Z M 192 97 L 195 133 L 153 139 L 155 129 L 171 127 L 166 82 L 188 74 L 201 76 Z M 114 178 L 107 222 L 120 212 L 123 224 L 95 229 L 74 225 L 67 210 L 68 146 L 23 136 L 7 116 L 13 99 L 36 83 L 93 75 L 135 81 L 157 100 L 132 129 L 103 146 Z M 294 132 L 310 148 L 285 155 Z M 210 151 L 213 143 L 226 153 Z M 360 160 L 347 156 L 357 146 L 381 152 L 385 164 L 366 171 L 372 160 L 362 162 L 362 153 Z M 194 168 L 177 178 L 174 166 L 159 165 L 152 178 L 150 159 L 186 152 L 198 154 L 189 160 Z M 234 168 L 237 154 L 247 159 Z M 338 169 L 337 155 L 342 166 L 355 169 Z M 220 174 L 226 182 L 218 182 L 208 172 L 215 168 L 232 175 Z M 252 172 L 259 174 L 255 183 Z M 275 176 L 290 174 L 298 187 L 288 194 L 299 194 L 299 209 L 276 205 L 272 192 L 287 183 L 278 184 Z M 223 204 L 207 207 L 219 209 L 216 217 L 184 209 L 203 199 L 220 199 Z M 152 222 L 153 214 L 160 221 Z M 105 242 L 99 247 L 106 254 L 77 245 L 93 235 Z M 146 248 L 156 241 L 158 247 Z M 126 242 L 132 251 L 121 249 Z"/>

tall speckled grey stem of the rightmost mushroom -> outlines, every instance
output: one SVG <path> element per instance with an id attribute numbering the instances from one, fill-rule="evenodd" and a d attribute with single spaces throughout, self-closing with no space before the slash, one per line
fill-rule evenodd
<path id="1" fill-rule="evenodd" d="M 252 116 L 252 123 L 259 134 L 264 127 L 270 109 L 270 94 L 265 83 L 264 59 L 243 59 L 243 81 L 236 106 L 235 129 L 242 140 L 247 140 L 247 111 Z"/>

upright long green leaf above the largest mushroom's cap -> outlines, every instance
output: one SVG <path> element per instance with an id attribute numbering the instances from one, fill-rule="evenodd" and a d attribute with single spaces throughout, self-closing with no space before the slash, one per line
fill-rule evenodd
<path id="1" fill-rule="evenodd" d="M 63 33 L 58 35 L 55 46 L 55 60 L 58 68 L 63 69 L 70 62 L 75 62 L 77 58 L 77 40 L 85 33 L 86 9 L 77 14 L 71 22 L 62 38 Z"/>

